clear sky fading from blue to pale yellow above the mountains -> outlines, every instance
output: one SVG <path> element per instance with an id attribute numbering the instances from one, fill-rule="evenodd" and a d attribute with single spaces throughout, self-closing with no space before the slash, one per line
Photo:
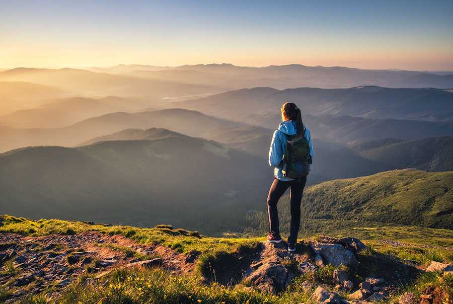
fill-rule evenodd
<path id="1" fill-rule="evenodd" d="M 453 1 L 0 0 L 0 68 L 300 63 L 453 70 Z"/>

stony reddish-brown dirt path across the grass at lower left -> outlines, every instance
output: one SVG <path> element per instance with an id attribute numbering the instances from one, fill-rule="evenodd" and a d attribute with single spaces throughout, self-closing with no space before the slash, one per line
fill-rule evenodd
<path id="1" fill-rule="evenodd" d="M 152 265 L 185 274 L 193 271 L 196 257 L 98 232 L 44 237 L 0 234 L 0 286 L 13 292 L 10 299 L 39 293 L 50 285 L 63 287 L 83 274 L 99 275 L 142 260 L 154 260 Z"/>

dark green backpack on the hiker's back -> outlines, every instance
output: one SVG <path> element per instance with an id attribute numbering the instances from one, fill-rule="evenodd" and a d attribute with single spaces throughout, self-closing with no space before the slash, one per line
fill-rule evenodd
<path id="1" fill-rule="evenodd" d="M 294 136 L 288 136 L 286 140 L 285 154 L 283 155 L 284 177 L 297 179 L 309 175 L 310 145 L 304 136 L 299 140 L 290 142 Z"/>

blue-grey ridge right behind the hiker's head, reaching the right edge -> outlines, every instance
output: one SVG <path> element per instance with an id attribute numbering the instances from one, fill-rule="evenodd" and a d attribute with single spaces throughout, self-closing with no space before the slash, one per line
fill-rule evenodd
<path id="1" fill-rule="evenodd" d="M 241 89 L 175 104 L 226 119 L 278 113 L 285 101 L 296 103 L 303 115 L 360 116 L 444 121 L 453 117 L 453 91 L 392 89 L 375 86 L 348 89 Z"/>

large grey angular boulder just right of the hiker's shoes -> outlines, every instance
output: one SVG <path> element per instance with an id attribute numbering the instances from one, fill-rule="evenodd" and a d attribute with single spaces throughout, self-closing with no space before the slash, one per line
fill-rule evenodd
<path id="1" fill-rule="evenodd" d="M 340 244 L 313 242 L 310 246 L 316 253 L 321 255 L 327 263 L 334 266 L 344 265 L 346 267 L 356 268 L 358 265 L 354 254 Z"/>

